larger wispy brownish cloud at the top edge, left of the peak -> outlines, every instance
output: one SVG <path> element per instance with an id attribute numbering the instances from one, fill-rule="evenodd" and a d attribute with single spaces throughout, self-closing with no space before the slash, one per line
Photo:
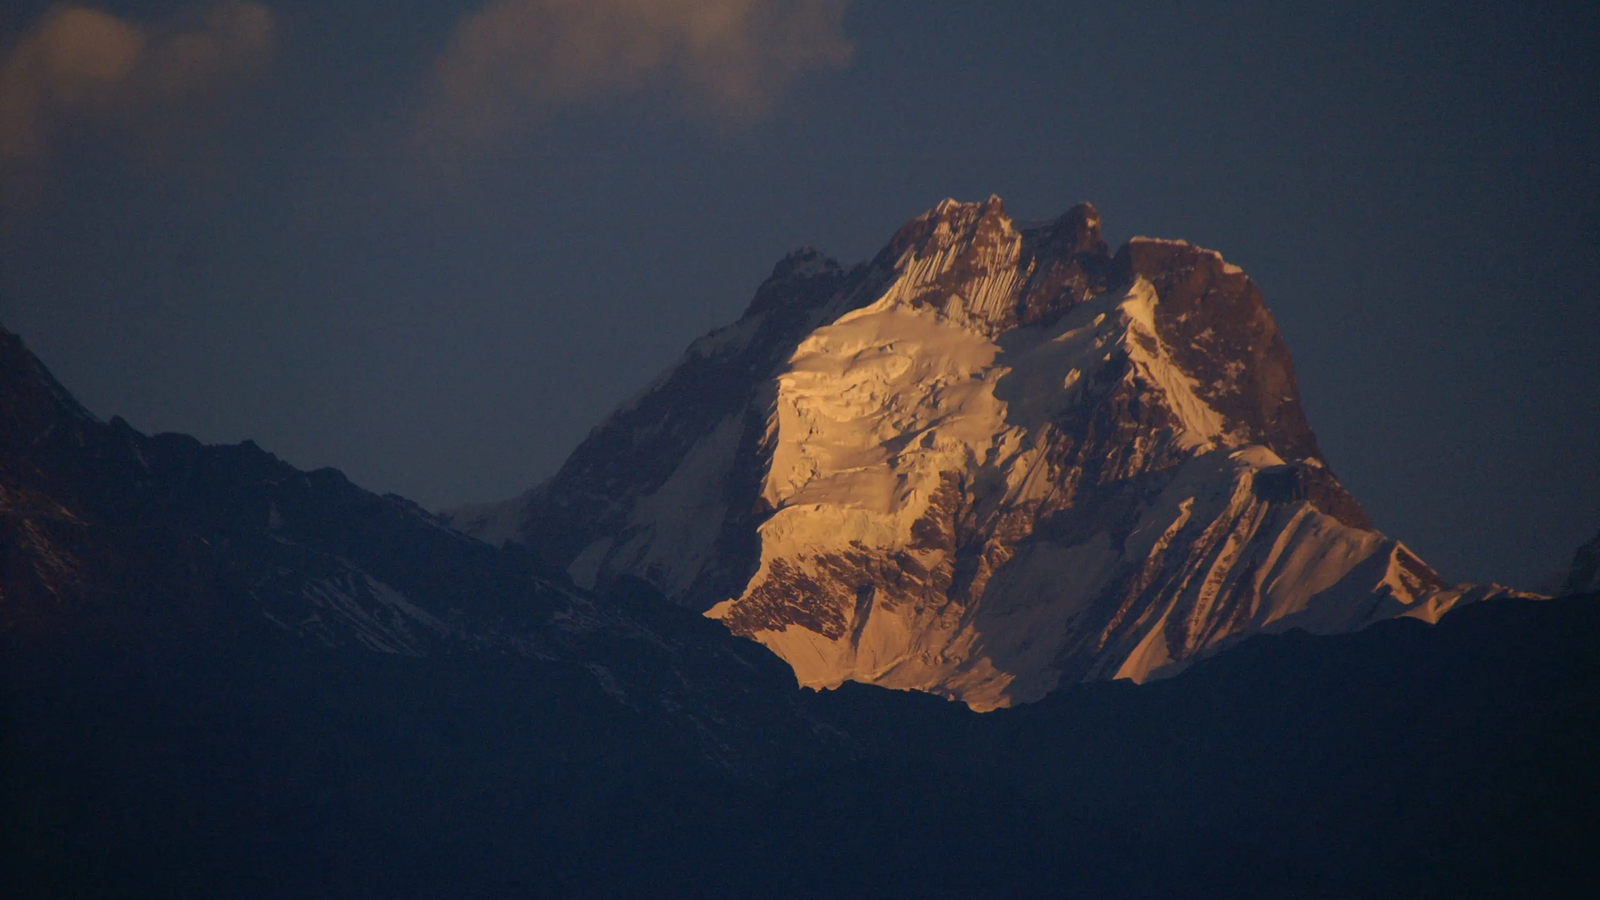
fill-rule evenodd
<path id="1" fill-rule="evenodd" d="M 723 117 L 842 66 L 850 0 L 493 0 L 464 18 L 416 117 L 430 146 L 474 147 L 563 106 L 666 88 Z"/>

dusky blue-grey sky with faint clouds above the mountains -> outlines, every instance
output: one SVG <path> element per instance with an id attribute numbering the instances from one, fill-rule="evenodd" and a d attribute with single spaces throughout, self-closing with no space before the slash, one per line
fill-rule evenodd
<path id="1" fill-rule="evenodd" d="M 98 415 L 429 508 L 552 474 L 784 253 L 1091 200 L 1261 285 L 1448 580 L 1600 530 L 1600 5 L 10 2 L 0 323 Z"/>

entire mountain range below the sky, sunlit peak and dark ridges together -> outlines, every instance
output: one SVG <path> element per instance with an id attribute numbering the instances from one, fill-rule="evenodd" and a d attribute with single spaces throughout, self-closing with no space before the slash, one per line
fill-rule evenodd
<path id="1" fill-rule="evenodd" d="M 1293 388 L 1210 251 L 944 203 L 781 263 L 493 546 L 0 328 L 0 897 L 1595 895 L 1597 596 L 1418 621 L 1490 591 Z"/>

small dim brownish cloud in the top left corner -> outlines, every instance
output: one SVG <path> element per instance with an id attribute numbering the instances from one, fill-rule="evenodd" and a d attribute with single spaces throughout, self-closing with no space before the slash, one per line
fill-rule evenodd
<path id="1" fill-rule="evenodd" d="M 53 8 L 0 56 L 0 165 L 45 160 L 85 128 L 157 138 L 216 115 L 272 45 L 272 13 L 243 0 L 154 24 Z"/>

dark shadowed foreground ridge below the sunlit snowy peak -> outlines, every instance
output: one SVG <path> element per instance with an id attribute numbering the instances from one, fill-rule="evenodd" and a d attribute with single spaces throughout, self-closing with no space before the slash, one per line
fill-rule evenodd
<path id="1" fill-rule="evenodd" d="M 989 714 L 798 690 L 645 580 L 101 423 L 0 330 L 0 892 L 1589 895 L 1595 599 Z"/>

